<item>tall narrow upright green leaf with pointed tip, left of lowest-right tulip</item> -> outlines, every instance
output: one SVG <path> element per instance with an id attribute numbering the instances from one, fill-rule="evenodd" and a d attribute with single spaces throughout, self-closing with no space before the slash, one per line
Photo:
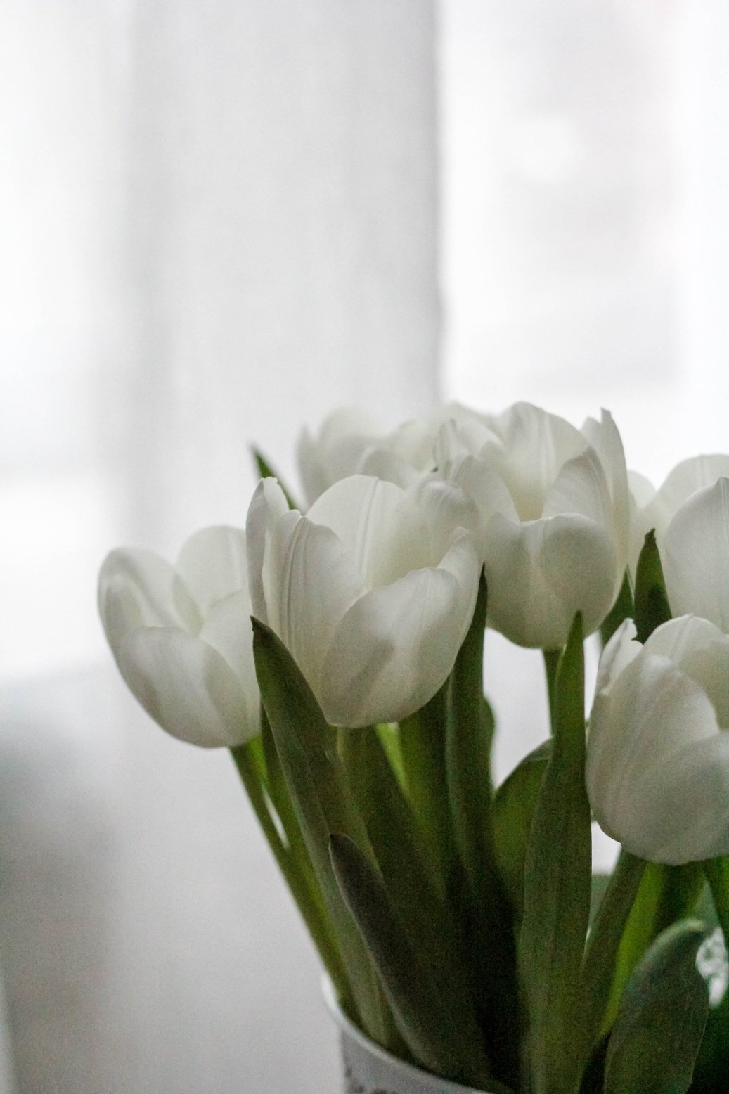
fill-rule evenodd
<path id="1" fill-rule="evenodd" d="M 585 789 L 585 659 L 575 618 L 554 690 L 553 747 L 524 864 L 519 943 L 534 1094 L 579 1089 L 580 970 L 590 912 L 591 827 Z"/>

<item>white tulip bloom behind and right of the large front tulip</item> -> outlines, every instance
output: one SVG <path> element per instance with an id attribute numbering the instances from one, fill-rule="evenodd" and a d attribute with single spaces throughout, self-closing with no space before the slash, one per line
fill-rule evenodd
<path id="1" fill-rule="evenodd" d="M 603 411 L 575 429 L 526 403 L 467 430 L 448 423 L 438 473 L 479 514 L 488 622 L 518 645 L 557 649 L 576 612 L 600 626 L 627 562 L 629 510 L 620 434 Z"/>

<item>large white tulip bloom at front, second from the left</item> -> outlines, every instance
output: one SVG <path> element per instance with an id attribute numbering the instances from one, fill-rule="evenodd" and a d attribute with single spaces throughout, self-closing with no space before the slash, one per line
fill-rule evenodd
<path id="1" fill-rule="evenodd" d="M 263 479 L 246 524 L 253 614 L 334 725 L 397 721 L 441 687 L 473 615 L 479 563 L 445 484 L 356 475 L 306 516 Z M 445 502 L 443 502 L 445 498 Z"/>

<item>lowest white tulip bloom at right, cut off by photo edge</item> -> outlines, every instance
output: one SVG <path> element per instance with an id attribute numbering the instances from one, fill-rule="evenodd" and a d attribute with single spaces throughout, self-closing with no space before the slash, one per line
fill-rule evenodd
<path id="1" fill-rule="evenodd" d="M 729 638 L 682 616 L 645 645 L 626 620 L 605 647 L 587 743 L 600 826 L 678 865 L 729 853 Z"/>

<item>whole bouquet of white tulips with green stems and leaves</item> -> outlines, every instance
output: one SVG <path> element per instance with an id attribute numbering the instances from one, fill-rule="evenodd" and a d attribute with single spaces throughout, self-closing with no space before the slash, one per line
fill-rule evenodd
<path id="1" fill-rule="evenodd" d="M 101 615 L 151 717 L 231 749 L 346 1014 L 494 1094 L 726 1092 L 729 456 L 655 490 L 609 414 L 518 404 L 338 411 L 305 504 L 257 459 L 245 531 L 113 551 Z M 485 627 L 544 651 L 552 723 L 497 789 Z"/>

